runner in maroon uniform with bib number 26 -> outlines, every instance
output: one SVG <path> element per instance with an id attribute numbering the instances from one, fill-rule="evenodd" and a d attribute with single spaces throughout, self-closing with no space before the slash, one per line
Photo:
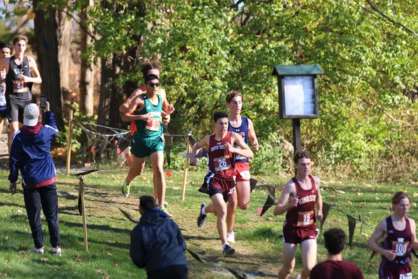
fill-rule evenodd
<path id="1" fill-rule="evenodd" d="M 228 114 L 226 112 L 215 112 L 215 133 L 206 136 L 194 147 L 190 156 L 190 165 L 196 165 L 196 153 L 202 147 L 208 146 L 208 169 L 205 181 L 199 191 L 207 193 L 212 199 L 212 204 L 206 206 L 201 204 L 198 227 L 202 227 L 206 220 L 207 213 L 214 213 L 217 216 L 217 230 L 222 241 L 224 255 L 233 255 L 235 249 L 229 246 L 226 240 L 226 202 L 235 190 L 235 154 L 252 158 L 253 153 L 242 140 L 241 135 L 228 131 Z M 238 146 L 235 148 L 233 146 Z"/>

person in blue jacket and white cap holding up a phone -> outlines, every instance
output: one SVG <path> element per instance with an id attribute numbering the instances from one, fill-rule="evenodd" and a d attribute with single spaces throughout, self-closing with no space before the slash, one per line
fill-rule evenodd
<path id="1" fill-rule="evenodd" d="M 45 126 L 38 123 L 39 108 L 36 104 L 24 108 L 24 126 L 12 139 L 9 167 L 10 191 L 16 193 L 16 181 L 19 171 L 22 176 L 24 204 L 31 225 L 35 248 L 28 252 L 43 254 L 43 236 L 40 226 L 40 209 L 42 207 L 48 222 L 51 253 L 61 256 L 58 223 L 58 195 L 56 193 L 56 172 L 51 156 L 51 142 L 56 135 L 54 114 L 49 111 L 49 103 L 43 109 Z"/>

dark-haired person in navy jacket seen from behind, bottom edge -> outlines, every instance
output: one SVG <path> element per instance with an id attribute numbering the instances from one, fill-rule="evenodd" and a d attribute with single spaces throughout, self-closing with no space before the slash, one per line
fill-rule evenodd
<path id="1" fill-rule="evenodd" d="M 187 279 L 183 234 L 151 196 L 139 197 L 139 224 L 131 232 L 130 257 L 148 279 Z"/>

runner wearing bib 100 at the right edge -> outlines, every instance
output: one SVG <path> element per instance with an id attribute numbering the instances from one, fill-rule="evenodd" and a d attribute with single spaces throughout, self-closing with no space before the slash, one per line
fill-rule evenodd
<path id="1" fill-rule="evenodd" d="M 407 193 L 396 193 L 392 198 L 394 213 L 379 223 L 369 239 L 369 248 L 382 255 L 380 279 L 412 279 L 411 249 L 418 249 L 418 242 L 415 221 L 406 217 L 410 203 Z M 384 239 L 382 248 L 380 239 Z"/>

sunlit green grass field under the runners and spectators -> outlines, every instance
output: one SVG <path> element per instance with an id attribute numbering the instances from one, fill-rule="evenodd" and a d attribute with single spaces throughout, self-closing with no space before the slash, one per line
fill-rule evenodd
<path id="1" fill-rule="evenodd" d="M 128 199 L 121 196 L 121 181 L 127 169 L 103 170 L 84 177 L 84 182 L 93 190 L 118 204 L 136 218 L 139 218 L 139 195 L 152 195 L 152 173 L 135 179 Z M 86 212 L 88 223 L 88 252 L 84 252 L 82 217 L 77 211 L 75 197 L 59 195 L 59 220 L 61 228 L 62 257 L 27 254 L 33 248 L 31 230 L 26 218 L 22 188 L 18 193 L 8 193 L 8 173 L 0 171 L 3 184 L 0 188 L 0 277 L 6 278 L 146 278 L 143 270 L 137 269 L 129 257 L 130 231 L 134 224 L 127 220 L 113 205 L 107 203 L 92 189 L 86 190 Z M 203 179 L 203 172 L 189 171 L 185 202 L 180 200 L 183 172 L 173 172 L 167 179 L 167 202 L 169 212 L 183 231 L 190 249 L 216 260 L 220 264 L 245 271 L 249 278 L 277 278 L 282 263 L 280 238 L 284 216 L 275 217 L 270 209 L 260 218 L 257 208 L 262 206 L 267 191 L 259 186 L 251 195 L 251 205 L 247 211 L 238 210 L 235 226 L 234 257 L 222 257 L 221 243 L 216 232 L 215 216 L 208 216 L 203 229 L 196 226 L 201 202 L 210 201 L 207 195 L 197 192 Z M 257 177 L 274 183 L 279 188 L 285 177 Z M 402 185 L 376 184 L 370 181 L 328 181 L 323 179 L 323 199 L 337 204 L 339 209 L 352 216 L 362 216 L 362 220 L 376 226 L 389 215 L 390 199 L 397 190 L 407 190 L 412 199 L 418 192 L 412 183 Z M 59 174 L 59 191 L 78 195 L 78 180 L 73 176 Z M 277 190 L 277 195 L 279 195 Z M 277 197 L 278 198 L 278 197 Z M 416 204 L 412 204 L 410 217 L 417 217 Z M 331 209 L 324 229 L 342 227 L 348 233 L 346 216 Z M 47 223 L 42 216 L 45 251 L 50 250 Z M 378 278 L 379 257 L 369 263 L 371 251 L 366 241 L 373 228 L 357 223 L 353 247 L 343 253 L 344 259 L 355 262 L 362 269 L 365 278 Z M 294 278 L 302 268 L 300 250 L 297 250 Z M 201 264 L 188 253 L 189 278 L 233 278 L 229 271 L 211 264 Z M 326 259 L 323 236 L 318 238 L 318 261 Z M 412 269 L 417 269 L 417 259 L 412 260 Z"/>

